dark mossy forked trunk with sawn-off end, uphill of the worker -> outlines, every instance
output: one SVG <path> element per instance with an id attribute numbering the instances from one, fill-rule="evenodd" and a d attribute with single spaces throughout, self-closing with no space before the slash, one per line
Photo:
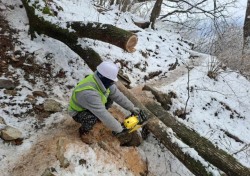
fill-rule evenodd
<path id="1" fill-rule="evenodd" d="M 27 0 L 22 0 L 22 3 L 26 9 L 27 16 L 29 18 L 29 25 L 30 25 L 30 33 L 31 35 L 34 32 L 38 34 L 45 34 L 51 38 L 59 40 L 66 44 L 72 51 L 78 54 L 89 66 L 90 69 L 95 70 L 97 65 L 102 62 L 100 55 L 95 52 L 92 48 L 85 47 L 83 48 L 81 45 L 78 44 L 79 37 L 93 37 L 93 39 L 98 39 L 106 42 L 110 42 L 111 44 L 117 45 L 129 52 L 134 51 L 134 47 L 137 44 L 137 37 L 134 33 L 125 31 L 123 29 L 116 28 L 112 25 L 97 25 L 96 27 L 93 24 L 82 24 L 80 22 L 71 22 L 68 23 L 68 27 L 72 27 L 75 32 L 72 32 L 68 29 L 63 29 L 56 24 L 52 24 L 49 21 L 46 21 L 42 17 L 35 15 L 35 9 L 33 6 L 30 6 Z M 80 27 L 82 25 L 82 27 Z M 95 27 L 95 30 L 90 32 L 92 28 Z M 106 29 L 99 29 L 103 27 L 107 27 Z M 105 32 L 110 29 L 112 31 L 112 38 L 107 37 L 108 35 Z M 86 32 L 88 30 L 88 32 Z M 98 33 L 98 36 L 95 36 L 95 32 Z M 87 33 L 87 34 L 85 34 Z M 121 36 L 119 36 L 121 35 Z M 103 36 L 103 38 L 102 38 Z M 113 43 L 112 43 L 113 42 Z M 130 82 L 124 79 L 123 75 L 119 75 L 120 80 L 123 81 L 124 84 L 129 86 Z"/>

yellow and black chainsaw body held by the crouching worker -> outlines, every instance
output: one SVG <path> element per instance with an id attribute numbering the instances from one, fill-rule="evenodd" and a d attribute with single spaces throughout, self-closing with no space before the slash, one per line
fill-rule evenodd
<path id="1" fill-rule="evenodd" d="M 123 125 L 128 130 L 128 133 L 132 133 L 133 131 L 136 131 L 146 125 L 147 120 L 148 118 L 145 113 L 140 110 L 139 114 L 131 114 L 129 117 L 127 117 L 124 120 Z"/>

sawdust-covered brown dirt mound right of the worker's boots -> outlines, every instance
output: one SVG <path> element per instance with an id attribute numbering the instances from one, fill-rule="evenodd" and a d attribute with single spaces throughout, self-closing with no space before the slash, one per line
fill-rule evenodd
<path id="1" fill-rule="evenodd" d="M 125 115 L 117 108 L 109 110 L 114 117 L 122 121 Z M 142 175 L 147 172 L 146 162 L 142 159 L 136 147 L 120 147 L 120 143 L 102 123 L 97 123 L 94 129 L 87 135 L 92 143 L 96 143 L 113 158 L 118 168 L 127 167 L 134 175 Z M 98 152 L 99 153 L 99 152 Z M 102 155 L 102 153 L 99 153 Z"/>

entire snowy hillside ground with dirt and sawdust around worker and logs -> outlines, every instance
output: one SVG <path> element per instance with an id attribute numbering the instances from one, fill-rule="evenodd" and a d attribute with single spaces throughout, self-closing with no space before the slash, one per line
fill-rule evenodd
<path id="1" fill-rule="evenodd" d="M 42 0 L 36 2 L 45 6 Z M 49 5 L 57 16 L 36 13 L 59 25 L 68 21 L 99 22 L 136 30 L 138 44 L 133 53 L 97 40 L 78 41 L 98 52 L 103 60 L 120 63 L 134 89 L 152 84 L 164 93 L 174 92 L 176 98 L 169 111 L 175 114 L 187 104 L 188 112 L 185 119 L 176 119 L 250 167 L 249 81 L 226 67 L 219 69 L 215 79 L 209 78 L 211 56 L 191 51 L 185 39 L 172 29 L 137 27 L 133 20 L 143 19 L 121 13 L 115 6 L 100 13 L 89 0 L 53 0 Z M 92 71 L 62 42 L 44 35 L 31 40 L 29 21 L 20 1 L 2 0 L 0 9 L 1 17 L 9 24 L 3 25 L 7 22 L 1 20 L 1 42 L 12 42 L 5 43 L 9 45 L 6 51 L 1 50 L 0 80 L 13 84 L 11 90 L 0 85 L 0 130 L 6 125 L 14 127 L 22 138 L 12 142 L 0 139 L 2 175 L 41 175 L 46 169 L 54 175 L 70 176 L 192 175 L 152 134 L 138 148 L 122 148 L 110 131 L 98 124 L 91 134 L 94 143 L 83 143 L 77 134 L 79 125 L 67 115 L 67 105 L 73 87 Z M 47 99 L 56 100 L 59 110 L 46 111 Z M 116 105 L 111 113 L 124 118 L 128 112 Z M 58 139 L 67 144 L 67 168 L 60 167 L 55 156 Z M 208 167 L 219 175 L 216 168 Z"/>

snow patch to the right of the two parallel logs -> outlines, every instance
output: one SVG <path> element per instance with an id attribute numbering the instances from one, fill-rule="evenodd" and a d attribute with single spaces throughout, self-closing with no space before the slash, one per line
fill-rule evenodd
<path id="1" fill-rule="evenodd" d="M 171 84 L 163 84 L 158 89 L 164 93 L 172 91 L 177 94 L 170 110 L 174 113 L 185 108 L 189 87 L 188 115 L 185 120 L 180 121 L 218 147 L 234 154 L 250 142 L 250 83 L 229 69 L 220 70 L 217 80 L 209 78 L 209 62 L 211 58 L 206 58 L 200 66 L 190 71 L 189 83 L 186 74 Z M 243 143 L 227 136 L 227 132 L 238 137 Z M 250 167 L 249 152 L 247 149 L 233 156 Z"/>

